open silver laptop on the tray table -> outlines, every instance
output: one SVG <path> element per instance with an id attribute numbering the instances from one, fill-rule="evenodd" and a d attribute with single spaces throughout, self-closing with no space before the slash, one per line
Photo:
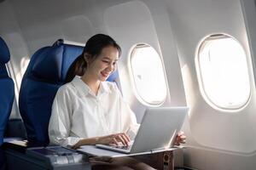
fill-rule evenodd
<path id="1" fill-rule="evenodd" d="M 149 108 L 145 111 L 133 144 L 129 146 L 96 144 L 96 147 L 127 154 L 170 148 L 188 111 L 188 107 Z"/>

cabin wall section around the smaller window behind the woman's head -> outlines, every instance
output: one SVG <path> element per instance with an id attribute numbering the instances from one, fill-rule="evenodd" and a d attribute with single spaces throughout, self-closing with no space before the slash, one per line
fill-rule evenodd
<path id="1" fill-rule="evenodd" d="M 131 72 L 127 69 L 127 60 L 131 46 L 135 43 L 146 42 L 151 45 L 160 54 L 160 58 L 166 67 L 169 92 L 166 101 L 162 105 L 186 105 L 177 49 L 173 42 L 172 31 L 170 31 L 171 26 L 167 11 L 159 10 L 165 7 L 164 2 L 155 3 L 153 0 L 144 2 L 130 0 L 95 2 L 91 0 L 85 2 L 79 0 L 73 3 L 63 0 L 39 2 L 7 0 L 5 3 L 9 3 L 15 20 L 17 20 L 16 22 L 25 41 L 20 42 L 20 44 L 26 45 L 23 50 L 29 54 L 29 57 L 38 48 L 49 46 L 59 38 L 64 38 L 67 42 L 84 45 L 89 37 L 102 32 L 116 39 L 123 50 L 118 65 L 121 89 L 125 99 L 131 104 L 131 109 L 137 113 L 138 122 L 141 121 L 146 106 L 138 101 L 134 88 L 129 86 L 132 84 L 131 78 L 126 79 L 127 75 L 131 76 Z M 122 11 L 119 15 L 114 14 L 116 12 L 114 10 L 113 15 L 108 12 L 111 8 L 119 8 L 119 6 L 126 8 L 126 14 L 129 14 L 129 10 L 135 10 L 135 13 L 125 16 Z M 137 13 L 142 14 L 147 20 L 138 20 Z M 124 17 L 130 17 L 129 20 L 133 23 L 140 22 L 139 24 L 142 27 L 139 29 L 136 25 L 129 26 L 125 20 L 122 20 Z M 143 17 L 140 19 L 144 19 Z M 165 20 L 160 20 L 162 17 Z M 126 30 L 120 29 L 120 27 L 114 28 L 115 20 L 119 20 L 119 24 L 124 25 Z M 12 51 L 13 48 L 10 48 L 10 50 Z M 15 56 L 15 59 L 21 62 L 22 58 L 21 56 Z M 19 65 L 19 63 L 17 62 L 15 65 Z M 26 66 L 24 68 L 26 69 Z"/>

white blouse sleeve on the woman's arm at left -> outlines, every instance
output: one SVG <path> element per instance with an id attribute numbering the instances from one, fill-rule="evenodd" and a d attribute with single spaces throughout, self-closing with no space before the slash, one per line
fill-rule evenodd
<path id="1" fill-rule="evenodd" d="M 55 96 L 49 119 L 49 141 L 53 144 L 71 146 L 81 138 L 70 137 L 73 99 L 68 88 L 60 88 Z"/>

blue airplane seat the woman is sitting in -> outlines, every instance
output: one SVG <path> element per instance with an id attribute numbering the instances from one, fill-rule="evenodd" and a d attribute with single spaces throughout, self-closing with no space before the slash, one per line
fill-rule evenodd
<path id="1" fill-rule="evenodd" d="M 58 40 L 51 47 L 32 55 L 20 86 L 20 115 L 31 145 L 49 144 L 48 126 L 51 106 L 58 88 L 65 83 L 67 71 L 84 47 Z M 118 73 L 111 76 L 111 81 Z"/>

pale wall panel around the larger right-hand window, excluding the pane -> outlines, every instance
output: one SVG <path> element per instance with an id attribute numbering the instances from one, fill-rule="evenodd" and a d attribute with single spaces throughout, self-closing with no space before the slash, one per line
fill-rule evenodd
<path id="1" fill-rule="evenodd" d="M 255 88 L 252 55 L 240 1 L 166 1 L 173 35 L 181 60 L 183 81 L 190 108 L 184 126 L 188 148 L 186 166 L 198 169 L 253 169 L 256 157 L 254 126 Z M 203 99 L 195 69 L 195 54 L 204 37 L 226 33 L 235 37 L 247 55 L 251 96 L 237 111 L 212 108 Z"/>

